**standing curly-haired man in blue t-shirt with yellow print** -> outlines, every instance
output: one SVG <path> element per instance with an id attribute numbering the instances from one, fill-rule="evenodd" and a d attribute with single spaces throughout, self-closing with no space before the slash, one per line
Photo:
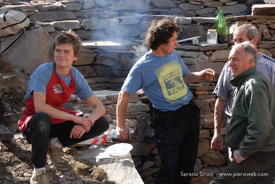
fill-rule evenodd
<path id="1" fill-rule="evenodd" d="M 152 21 L 146 35 L 151 50 L 130 70 L 116 108 L 116 130 L 123 142 L 131 139 L 125 127 L 129 95 L 142 88 L 152 102 L 155 109 L 151 127 L 155 129 L 161 158 L 156 184 L 190 183 L 199 144 L 200 110 L 187 84 L 212 80 L 215 75 L 212 69 L 189 72 L 175 51 L 181 31 L 176 22 L 167 18 Z"/>

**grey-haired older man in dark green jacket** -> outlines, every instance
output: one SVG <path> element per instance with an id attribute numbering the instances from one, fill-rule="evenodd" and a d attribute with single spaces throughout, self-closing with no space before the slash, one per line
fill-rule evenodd
<path id="1" fill-rule="evenodd" d="M 272 184 L 275 170 L 275 90 L 256 71 L 257 55 L 248 42 L 234 45 L 229 66 L 236 86 L 226 144 L 233 161 L 216 176 L 214 183 Z"/>

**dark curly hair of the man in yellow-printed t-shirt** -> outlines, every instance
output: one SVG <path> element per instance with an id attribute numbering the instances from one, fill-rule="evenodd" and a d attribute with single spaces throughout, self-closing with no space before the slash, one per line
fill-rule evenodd
<path id="1" fill-rule="evenodd" d="M 178 35 L 182 32 L 182 28 L 173 20 L 167 18 L 153 20 L 145 37 L 147 46 L 152 50 L 156 50 L 158 46 L 169 42 L 174 31 L 176 31 Z"/>

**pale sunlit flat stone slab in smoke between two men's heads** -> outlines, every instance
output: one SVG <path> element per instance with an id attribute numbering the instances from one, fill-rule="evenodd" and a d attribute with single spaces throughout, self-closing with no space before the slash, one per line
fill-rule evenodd
<path id="1" fill-rule="evenodd" d="M 86 49 L 103 50 L 135 50 L 138 44 L 130 40 L 108 39 L 108 40 L 83 40 L 82 47 Z"/>

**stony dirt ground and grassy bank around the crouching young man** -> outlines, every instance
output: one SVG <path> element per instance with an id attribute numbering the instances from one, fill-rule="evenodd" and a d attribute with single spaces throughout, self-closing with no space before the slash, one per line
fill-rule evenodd
<path id="1" fill-rule="evenodd" d="M 15 136 L 11 141 L 0 141 L 0 183 L 29 183 L 33 166 L 31 163 L 31 145 L 24 140 L 20 133 L 17 122 L 22 117 L 22 107 L 25 106 L 24 86 L 28 86 L 30 73 L 26 69 L 14 68 L 0 60 L 0 84 L 2 101 L 7 112 L 5 113 L 5 126 Z M 6 77 L 7 76 L 7 77 Z M 85 149 L 79 147 L 77 149 Z M 75 160 L 77 149 L 64 148 L 63 156 L 69 161 L 65 167 L 53 166 L 50 157 L 47 156 L 46 170 L 51 184 L 82 184 L 82 183 L 105 183 L 104 171 L 86 163 L 83 160 Z"/>

